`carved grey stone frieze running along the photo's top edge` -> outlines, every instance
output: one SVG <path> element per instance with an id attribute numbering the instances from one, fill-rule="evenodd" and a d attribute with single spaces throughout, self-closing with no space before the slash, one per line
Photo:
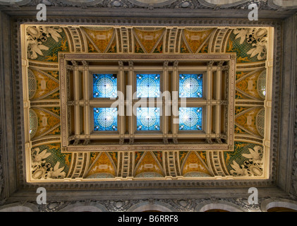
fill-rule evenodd
<path id="1" fill-rule="evenodd" d="M 159 1 L 154 4 L 148 4 L 144 1 L 138 0 L 95 0 L 95 1 L 71 1 L 71 0 L 23 0 L 16 2 L 14 4 L 6 4 L 2 2 L 2 7 L 11 8 L 22 8 L 23 6 L 37 6 L 38 4 L 45 4 L 47 7 L 80 7 L 86 8 L 147 8 L 147 10 L 154 10 L 154 8 L 163 9 L 183 9 L 184 11 L 190 11 L 193 9 L 214 9 L 215 11 L 223 10 L 225 8 L 229 9 L 240 9 L 249 10 L 250 4 L 257 4 L 257 7 L 261 10 L 286 10 L 286 8 L 294 8 L 294 6 L 285 7 L 282 5 L 275 4 L 273 0 L 247 0 L 247 1 L 234 1 L 229 4 L 211 4 L 209 1 L 205 0 L 170 0 L 170 1 Z M 296 8 L 296 6 L 295 6 Z"/>

